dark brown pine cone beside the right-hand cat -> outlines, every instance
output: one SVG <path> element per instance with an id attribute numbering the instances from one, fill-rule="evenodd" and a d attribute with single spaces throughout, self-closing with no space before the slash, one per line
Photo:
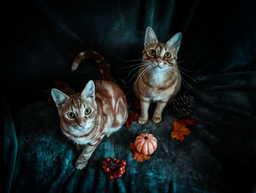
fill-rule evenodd
<path id="1" fill-rule="evenodd" d="M 170 104 L 173 116 L 176 118 L 187 118 L 191 116 L 194 107 L 194 97 L 184 93 Z"/>

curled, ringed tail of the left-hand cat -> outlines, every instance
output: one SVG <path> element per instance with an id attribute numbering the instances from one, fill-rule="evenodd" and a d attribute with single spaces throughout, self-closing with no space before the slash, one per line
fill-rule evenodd
<path id="1" fill-rule="evenodd" d="M 103 58 L 103 56 L 101 56 L 99 53 L 91 50 L 79 53 L 73 61 L 71 70 L 74 71 L 75 69 L 77 69 L 80 62 L 83 61 L 83 59 L 85 58 L 92 58 L 97 62 L 99 66 L 99 72 L 102 75 L 103 80 L 113 81 L 113 77 L 110 74 L 110 64 L 108 64 L 108 62 L 105 61 L 105 58 Z"/>

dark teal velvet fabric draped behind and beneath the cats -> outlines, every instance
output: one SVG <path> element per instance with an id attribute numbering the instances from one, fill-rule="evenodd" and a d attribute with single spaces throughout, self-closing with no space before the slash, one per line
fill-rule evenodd
<path id="1" fill-rule="evenodd" d="M 3 7 L 10 13 L 0 53 L 3 192 L 256 191 L 254 1 L 36 0 Z M 184 141 L 171 139 L 176 118 L 166 107 L 160 124 L 149 119 L 104 137 L 86 168 L 75 170 L 80 153 L 61 133 L 44 91 L 54 80 L 81 91 L 89 80 L 101 79 L 91 60 L 70 71 L 78 53 L 96 50 L 111 64 L 129 112 L 139 113 L 127 77 L 132 68 L 124 67 L 139 63 L 131 60 L 141 57 L 147 26 L 160 42 L 182 32 L 181 90 L 195 97 L 192 118 L 199 122 Z M 143 132 L 157 137 L 158 148 L 140 163 L 129 143 Z M 127 161 L 122 178 L 110 180 L 103 172 L 107 157 Z"/>

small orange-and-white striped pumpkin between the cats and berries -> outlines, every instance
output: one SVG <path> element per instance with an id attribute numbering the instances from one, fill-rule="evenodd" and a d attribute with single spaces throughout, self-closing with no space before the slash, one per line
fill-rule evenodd
<path id="1" fill-rule="evenodd" d="M 135 148 L 140 154 L 151 155 L 157 149 L 157 139 L 148 133 L 140 134 L 136 137 Z"/>

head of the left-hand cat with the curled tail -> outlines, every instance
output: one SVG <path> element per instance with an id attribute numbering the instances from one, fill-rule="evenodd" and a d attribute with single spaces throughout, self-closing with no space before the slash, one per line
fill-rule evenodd
<path id="1" fill-rule="evenodd" d="M 94 126 L 94 118 L 97 115 L 95 102 L 95 86 L 92 80 L 86 84 L 82 93 L 67 96 L 56 88 L 51 91 L 53 100 L 58 107 L 59 116 L 68 132 L 73 134 L 85 132 Z"/>

